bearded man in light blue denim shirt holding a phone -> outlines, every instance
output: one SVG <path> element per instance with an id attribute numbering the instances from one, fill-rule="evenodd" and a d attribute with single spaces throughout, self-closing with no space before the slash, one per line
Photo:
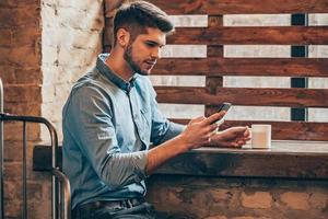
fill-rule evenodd
<path id="1" fill-rule="evenodd" d="M 63 107 L 63 171 L 74 218 L 161 218 L 143 200 L 144 180 L 161 164 L 201 146 L 241 147 L 247 127 L 215 132 L 223 113 L 168 122 L 145 77 L 174 30 L 165 12 L 137 1 L 114 19 L 114 47 L 73 87 Z M 150 149 L 149 146 L 156 147 Z M 163 216 L 164 217 L 164 216 Z"/>

